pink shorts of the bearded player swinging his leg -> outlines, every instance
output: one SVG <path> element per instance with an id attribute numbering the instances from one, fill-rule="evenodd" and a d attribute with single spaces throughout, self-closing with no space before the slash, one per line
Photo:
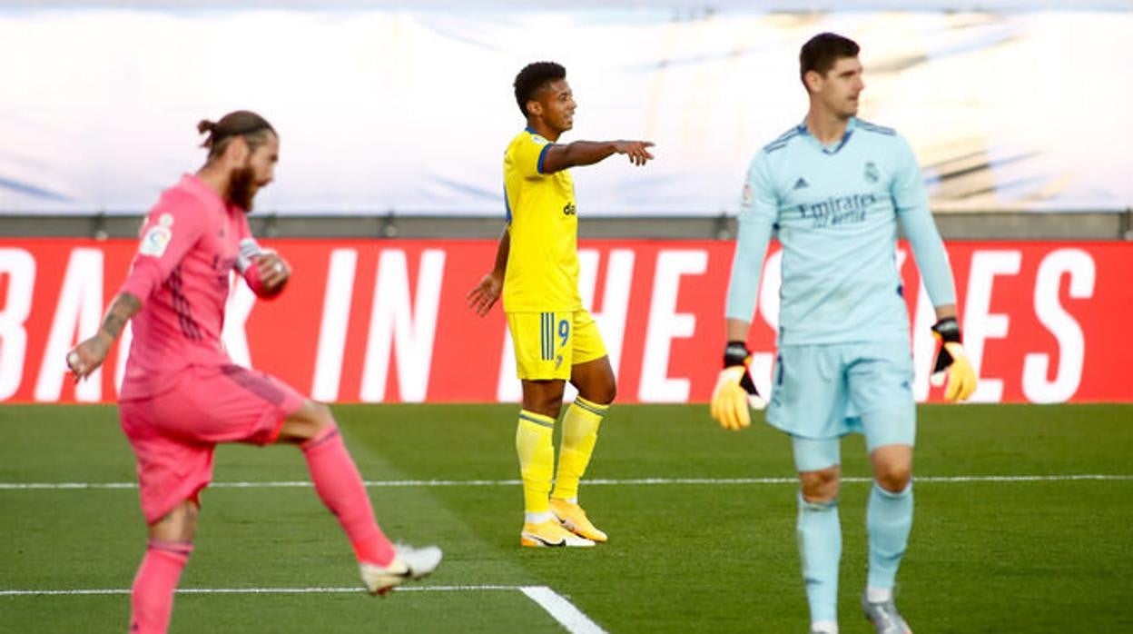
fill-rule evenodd
<path id="1" fill-rule="evenodd" d="M 306 399 L 282 381 L 238 365 L 189 366 L 172 389 L 123 400 L 122 431 L 137 456 L 146 524 L 212 481 L 219 442 L 270 445 Z"/>

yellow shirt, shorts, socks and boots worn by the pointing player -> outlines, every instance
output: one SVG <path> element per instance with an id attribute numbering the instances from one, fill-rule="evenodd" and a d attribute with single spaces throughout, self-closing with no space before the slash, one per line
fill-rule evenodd
<path id="1" fill-rule="evenodd" d="M 598 327 L 582 308 L 578 294 L 574 183 L 568 170 L 542 172 L 543 158 L 550 147 L 550 141 L 525 129 L 508 145 L 503 163 L 511 243 L 503 282 L 503 308 L 516 348 L 517 373 L 529 381 L 569 380 L 573 365 L 606 355 Z M 577 499 L 578 482 L 589 463 L 598 423 L 606 412 L 604 405 L 585 399 L 583 403 L 588 408 L 576 403 L 563 422 L 564 429 L 585 426 L 586 432 L 581 434 L 585 438 L 579 439 L 582 441 L 580 447 L 564 445 L 560 450 L 554 497 L 562 500 Z M 585 421 L 573 422 L 572 419 Z M 552 506 L 548 498 L 552 497 L 554 472 L 553 431 L 554 419 L 520 412 L 516 447 L 523 477 L 523 506 L 527 515 L 535 519 L 545 516 Z M 528 522 L 521 543 L 551 546 L 555 539 L 561 539 L 566 546 L 591 546 L 594 541 L 605 541 L 606 535 L 586 519 L 581 508 L 577 504 L 572 506 L 581 517 L 573 522 L 568 519 L 572 526 L 569 530 L 583 539 L 556 531 L 555 524 L 563 522 L 563 517 L 556 515 L 559 522 Z"/>

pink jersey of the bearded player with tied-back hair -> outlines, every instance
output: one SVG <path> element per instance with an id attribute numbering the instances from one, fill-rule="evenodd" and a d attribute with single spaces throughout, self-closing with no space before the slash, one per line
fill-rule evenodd
<path id="1" fill-rule="evenodd" d="M 162 193 L 139 235 L 119 289 L 143 303 L 131 321 L 123 400 L 169 389 L 188 366 L 232 363 L 221 343 L 229 273 L 258 251 L 244 210 L 191 175 Z"/>

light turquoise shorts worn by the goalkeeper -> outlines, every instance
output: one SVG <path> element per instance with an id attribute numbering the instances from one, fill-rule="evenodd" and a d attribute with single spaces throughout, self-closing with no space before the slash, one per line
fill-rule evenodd
<path id="1" fill-rule="evenodd" d="M 772 379 L 767 422 L 795 439 L 799 471 L 840 464 L 837 439 L 851 432 L 869 451 L 914 443 L 908 340 L 781 346 Z"/>

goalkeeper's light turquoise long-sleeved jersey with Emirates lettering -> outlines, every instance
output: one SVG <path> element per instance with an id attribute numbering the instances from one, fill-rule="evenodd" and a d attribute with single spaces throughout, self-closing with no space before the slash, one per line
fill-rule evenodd
<path id="1" fill-rule="evenodd" d="M 955 303 L 952 271 L 912 150 L 852 118 L 824 146 L 806 124 L 764 146 L 748 170 L 727 316 L 751 321 L 772 231 L 783 245 L 781 345 L 909 337 L 897 221 L 934 305 Z"/>

